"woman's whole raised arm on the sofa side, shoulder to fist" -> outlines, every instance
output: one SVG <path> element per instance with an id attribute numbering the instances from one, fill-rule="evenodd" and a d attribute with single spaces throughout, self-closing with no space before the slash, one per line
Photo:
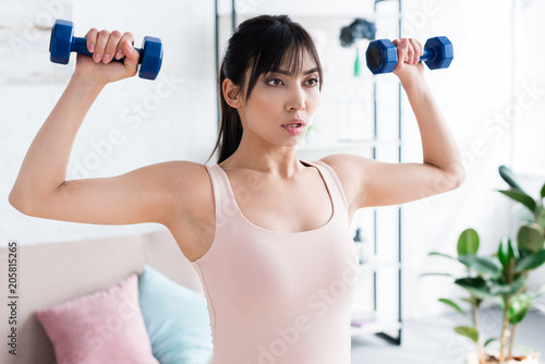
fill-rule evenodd
<path id="1" fill-rule="evenodd" d="M 172 198 L 174 194 L 190 191 L 183 184 L 191 178 L 177 177 L 196 169 L 203 172 L 201 165 L 173 161 L 112 178 L 65 180 L 74 139 L 93 102 L 106 84 L 136 73 L 140 56 L 132 44 L 130 33 L 89 31 L 87 48 L 95 57 L 77 56 L 64 93 L 29 146 L 9 197 L 16 209 L 29 216 L 87 223 L 166 223 L 171 216 L 169 207 L 179 202 Z M 123 63 L 111 62 L 113 57 L 123 56 Z"/>

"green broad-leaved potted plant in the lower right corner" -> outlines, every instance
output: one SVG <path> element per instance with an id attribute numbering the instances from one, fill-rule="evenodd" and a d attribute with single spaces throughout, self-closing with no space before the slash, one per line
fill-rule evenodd
<path id="1" fill-rule="evenodd" d="M 545 284 L 529 289 L 529 274 L 545 263 L 545 185 L 538 199 L 526 194 L 517 182 L 517 177 L 507 167 L 501 166 L 500 174 L 511 186 L 510 190 L 499 190 L 500 193 L 521 203 L 530 209 L 533 219 L 522 225 L 517 234 L 517 242 L 504 238 L 499 242 L 497 253 L 493 256 L 477 255 L 479 234 L 473 229 L 464 230 L 458 240 L 458 256 L 440 253 L 429 253 L 448 257 L 467 267 L 468 276 L 458 278 L 455 283 L 465 289 L 470 296 L 462 299 L 470 304 L 472 326 L 458 326 L 455 331 L 475 342 L 477 353 L 469 353 L 468 364 L 485 363 L 538 363 L 540 353 L 522 352 L 514 344 L 519 324 L 526 317 L 532 307 L 545 311 L 537 298 L 545 293 Z M 449 276 L 449 274 L 425 274 Z M 439 299 L 459 313 L 467 312 L 452 300 Z M 491 302 L 501 308 L 502 325 L 499 338 L 491 338 L 483 343 L 479 320 L 479 308 L 483 302 Z M 499 341 L 496 352 L 487 350 L 488 344 Z M 521 351 L 513 353 L 513 350 Z"/>

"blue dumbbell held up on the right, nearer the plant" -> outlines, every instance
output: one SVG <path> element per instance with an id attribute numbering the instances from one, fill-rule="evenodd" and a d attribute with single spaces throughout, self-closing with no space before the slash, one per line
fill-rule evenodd
<path id="1" fill-rule="evenodd" d="M 398 51 L 388 39 L 374 40 L 365 52 L 367 66 L 373 74 L 389 73 L 398 64 Z M 447 37 L 427 39 L 424 45 L 424 54 L 420 60 L 426 62 L 429 70 L 446 69 L 455 58 L 452 44 Z"/>

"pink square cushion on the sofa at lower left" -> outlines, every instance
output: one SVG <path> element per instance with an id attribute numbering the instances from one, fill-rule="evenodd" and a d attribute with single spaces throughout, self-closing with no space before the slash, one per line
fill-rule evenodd
<path id="1" fill-rule="evenodd" d="M 136 274 L 100 292 L 36 316 L 53 343 L 58 364 L 158 364 L 138 305 Z"/>

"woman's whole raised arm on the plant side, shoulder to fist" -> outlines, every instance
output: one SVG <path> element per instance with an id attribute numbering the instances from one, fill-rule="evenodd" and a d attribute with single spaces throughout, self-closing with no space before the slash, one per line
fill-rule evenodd
<path id="1" fill-rule="evenodd" d="M 423 46 L 414 39 L 393 44 L 398 48 L 393 73 L 419 123 L 423 162 L 382 162 L 355 155 L 324 158 L 339 174 L 352 210 L 432 196 L 457 189 L 464 180 L 460 151 L 419 63 Z"/>

